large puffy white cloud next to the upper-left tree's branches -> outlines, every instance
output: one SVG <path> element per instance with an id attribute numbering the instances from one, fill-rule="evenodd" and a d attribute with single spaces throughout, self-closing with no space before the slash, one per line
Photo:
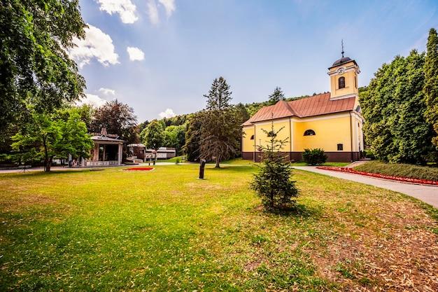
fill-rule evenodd
<path id="1" fill-rule="evenodd" d="M 96 58 L 104 66 L 118 64 L 118 55 L 114 51 L 111 36 L 105 34 L 97 27 L 88 25 L 85 28 L 85 39 L 74 39 L 76 47 L 69 50 L 69 56 L 79 63 L 82 68 L 90 64 L 92 58 Z"/>

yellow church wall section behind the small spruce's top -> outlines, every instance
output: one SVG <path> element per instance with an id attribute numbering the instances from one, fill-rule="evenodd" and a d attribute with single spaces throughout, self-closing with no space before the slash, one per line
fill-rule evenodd
<path id="1" fill-rule="evenodd" d="M 281 151 L 290 152 L 290 119 L 281 119 L 274 120 L 274 132 L 278 131 L 283 127 L 283 130 L 278 132 L 277 139 L 283 140 L 288 139 L 288 141 L 283 145 Z M 271 130 L 271 121 L 267 121 L 264 123 L 256 123 L 255 124 L 255 145 L 257 146 L 267 146 L 269 143 L 270 137 L 267 137 L 267 134 L 263 132 L 263 130 L 267 130 L 268 132 Z"/>

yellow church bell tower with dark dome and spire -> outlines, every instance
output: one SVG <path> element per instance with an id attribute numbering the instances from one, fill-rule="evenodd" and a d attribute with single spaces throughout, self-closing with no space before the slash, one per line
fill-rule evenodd
<path id="1" fill-rule="evenodd" d="M 344 57 L 344 41 L 341 54 L 341 59 L 335 61 L 327 73 L 330 76 L 330 99 L 357 98 L 360 69 L 355 60 Z"/>

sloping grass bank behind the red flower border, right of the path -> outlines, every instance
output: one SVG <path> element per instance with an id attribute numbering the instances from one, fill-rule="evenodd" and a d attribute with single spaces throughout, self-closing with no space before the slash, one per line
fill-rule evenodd
<path id="1" fill-rule="evenodd" d="M 354 167 L 354 169 L 361 172 L 372 172 L 375 174 L 387 174 L 392 176 L 409 177 L 412 179 L 428 179 L 430 181 L 438 181 L 438 167 L 370 161 L 363 165 L 358 165 L 357 167 Z"/>

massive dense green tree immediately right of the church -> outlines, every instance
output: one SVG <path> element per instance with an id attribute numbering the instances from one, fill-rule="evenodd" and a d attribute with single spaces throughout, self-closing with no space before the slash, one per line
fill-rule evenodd
<path id="1" fill-rule="evenodd" d="M 432 151 L 432 125 L 424 118 L 424 60 L 416 50 L 395 57 L 360 94 L 366 143 L 379 160 L 425 163 Z"/>

